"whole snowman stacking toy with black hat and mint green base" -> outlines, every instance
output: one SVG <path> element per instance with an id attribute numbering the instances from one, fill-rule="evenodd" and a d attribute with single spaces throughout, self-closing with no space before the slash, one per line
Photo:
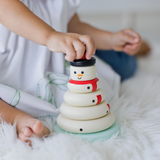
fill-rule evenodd
<path id="1" fill-rule="evenodd" d="M 95 63 L 94 57 L 86 60 L 85 55 L 70 63 L 69 90 L 60 107 L 61 114 L 54 127 L 56 132 L 67 131 L 91 141 L 109 139 L 117 133 L 115 116 L 105 100 L 104 91 L 99 88 Z"/>

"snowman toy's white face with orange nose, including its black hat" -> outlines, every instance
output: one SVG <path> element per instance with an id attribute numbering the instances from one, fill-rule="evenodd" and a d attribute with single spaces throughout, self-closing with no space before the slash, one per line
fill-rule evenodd
<path id="1" fill-rule="evenodd" d="M 71 62 L 70 75 L 71 79 L 76 81 L 88 81 L 96 78 L 96 59 L 80 59 Z"/>

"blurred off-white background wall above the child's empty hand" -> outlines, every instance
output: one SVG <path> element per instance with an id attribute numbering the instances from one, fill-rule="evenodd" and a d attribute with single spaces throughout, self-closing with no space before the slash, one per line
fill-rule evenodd
<path id="1" fill-rule="evenodd" d="M 160 41 L 160 0 L 81 0 L 81 20 L 98 28 L 133 28 L 144 39 Z"/>

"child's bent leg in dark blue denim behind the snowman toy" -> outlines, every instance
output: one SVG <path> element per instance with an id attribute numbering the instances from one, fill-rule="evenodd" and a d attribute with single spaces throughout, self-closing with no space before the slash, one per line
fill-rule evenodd
<path id="1" fill-rule="evenodd" d="M 121 81 L 131 77 L 137 69 L 135 57 L 124 52 L 97 50 L 96 56 L 108 63 L 121 76 Z"/>

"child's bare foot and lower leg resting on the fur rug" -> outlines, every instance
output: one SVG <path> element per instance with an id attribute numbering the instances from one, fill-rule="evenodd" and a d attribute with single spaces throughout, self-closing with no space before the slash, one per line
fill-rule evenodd
<path id="1" fill-rule="evenodd" d="M 22 141 L 33 134 L 39 137 L 49 134 L 49 129 L 40 120 L 34 119 L 27 113 L 18 110 L 0 99 L 1 118 L 12 125 L 16 122 L 17 134 Z"/>

